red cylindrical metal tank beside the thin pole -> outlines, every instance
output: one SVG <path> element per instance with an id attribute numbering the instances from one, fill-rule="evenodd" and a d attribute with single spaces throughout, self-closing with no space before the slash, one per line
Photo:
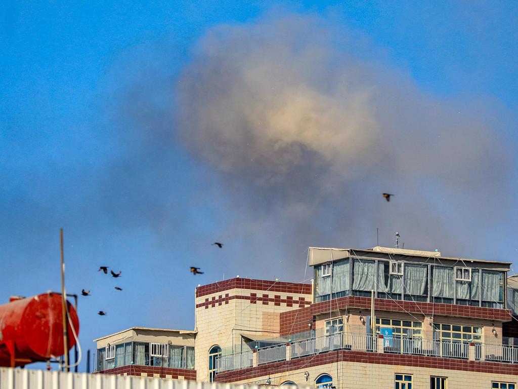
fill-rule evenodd
<path id="1" fill-rule="evenodd" d="M 67 301 L 79 336 L 76 310 Z M 68 350 L 76 343 L 68 323 Z M 13 353 L 14 352 L 14 353 Z M 24 366 L 63 355 L 61 294 L 44 293 L 0 305 L 0 366 Z"/>

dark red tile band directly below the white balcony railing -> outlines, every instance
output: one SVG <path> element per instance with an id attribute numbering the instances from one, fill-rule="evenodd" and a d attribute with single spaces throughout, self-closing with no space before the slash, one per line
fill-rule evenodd
<path id="1" fill-rule="evenodd" d="M 216 374 L 218 382 L 235 382 L 270 374 L 283 373 L 312 366 L 336 362 L 358 362 L 377 365 L 416 366 L 434 369 L 476 371 L 490 374 L 518 374 L 518 365 L 498 362 L 479 362 L 464 359 L 435 358 L 422 355 L 400 355 L 367 353 L 362 351 L 339 350 L 325 354 L 311 355 L 288 361 L 276 362 L 257 367 Z"/>

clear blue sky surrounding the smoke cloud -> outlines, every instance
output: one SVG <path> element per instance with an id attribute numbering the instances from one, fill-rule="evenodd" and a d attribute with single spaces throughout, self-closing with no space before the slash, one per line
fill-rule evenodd
<path id="1" fill-rule="evenodd" d="M 328 239 L 276 251 L 279 242 L 309 234 L 258 218 L 247 229 L 257 235 L 251 250 L 250 238 L 232 227 L 247 207 L 237 209 L 229 195 L 242 189 L 239 182 L 228 189 L 221 172 L 175 135 L 178 75 L 199 39 L 215 26 L 247 28 L 271 13 L 319 18 L 358 47 L 375 48 L 363 53 L 365 61 L 404 73 L 422 93 L 487 110 L 509 146 L 505 189 L 515 192 L 517 11 L 514 2 L 8 0 L 0 10 L 0 296 L 59 289 L 63 227 L 68 290 L 92 290 L 79 314 L 83 349 L 93 349 L 93 338 L 135 325 L 191 329 L 198 283 L 236 274 L 302 281 L 310 277 L 307 246 L 372 245 L 331 231 Z M 430 185 L 426 177 L 422 185 Z M 455 212 L 467 194 L 453 187 L 454 200 L 443 202 L 435 190 L 435 214 Z M 452 220 L 463 228 L 449 230 L 459 248 L 447 254 L 514 261 L 515 211 L 484 201 L 495 215 L 491 227 L 470 238 L 476 227 L 469 224 L 480 220 Z M 334 217 L 320 216 L 319 229 Z M 371 234 L 376 226 L 358 229 Z M 391 235 L 380 237 L 391 244 Z M 211 246 L 214 240 L 225 247 Z M 121 279 L 97 273 L 99 265 L 122 270 Z M 191 265 L 205 274 L 193 277 Z M 108 316 L 95 314 L 101 309 Z"/>

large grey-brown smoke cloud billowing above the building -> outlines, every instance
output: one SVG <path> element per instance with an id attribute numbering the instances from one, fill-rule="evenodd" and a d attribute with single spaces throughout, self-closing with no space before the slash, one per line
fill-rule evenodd
<path id="1" fill-rule="evenodd" d="M 402 230 L 412 247 L 474 254 L 507 201 L 491 110 L 424 92 L 382 50 L 323 24 L 215 27 L 180 74 L 178 134 L 221 174 L 239 215 L 227 236 L 299 257 L 375 245 L 379 227 L 385 245 Z"/>

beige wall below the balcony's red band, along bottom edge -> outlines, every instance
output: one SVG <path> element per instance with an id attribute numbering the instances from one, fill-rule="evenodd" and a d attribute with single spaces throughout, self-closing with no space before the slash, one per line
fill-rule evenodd
<path id="1" fill-rule="evenodd" d="M 304 374 L 305 372 L 309 373 L 307 380 Z M 316 378 L 322 373 L 327 373 L 333 377 L 333 384 L 337 389 L 393 389 L 395 374 L 410 374 L 412 376 L 412 387 L 416 389 L 429 388 L 430 376 L 448 378 L 449 389 L 491 389 L 493 381 L 518 382 L 518 376 L 511 374 L 490 374 L 425 367 L 338 362 L 284 373 L 275 373 L 270 374 L 270 376 L 236 381 L 233 383 L 264 384 L 269 378 L 271 385 L 280 385 L 289 380 L 299 386 L 307 385 L 314 387 Z"/>

